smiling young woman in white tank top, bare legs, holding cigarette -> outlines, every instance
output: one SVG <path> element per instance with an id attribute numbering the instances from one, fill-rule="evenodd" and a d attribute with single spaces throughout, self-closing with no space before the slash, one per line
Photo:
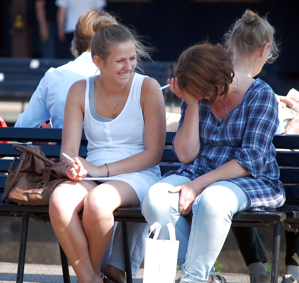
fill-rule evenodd
<path id="1" fill-rule="evenodd" d="M 113 211 L 140 206 L 160 178 L 165 104 L 155 79 L 135 73 L 146 48 L 120 24 L 94 22 L 91 55 L 100 75 L 75 82 L 65 103 L 61 156 L 71 181 L 52 192 L 54 232 L 78 282 L 103 282 L 100 265 L 113 234 Z M 86 160 L 78 157 L 82 125 Z M 87 174 L 92 179 L 84 179 Z M 83 209 L 83 226 L 77 213 Z M 112 251 L 113 252 L 113 251 Z M 104 271 L 105 273 L 105 271 Z"/>

